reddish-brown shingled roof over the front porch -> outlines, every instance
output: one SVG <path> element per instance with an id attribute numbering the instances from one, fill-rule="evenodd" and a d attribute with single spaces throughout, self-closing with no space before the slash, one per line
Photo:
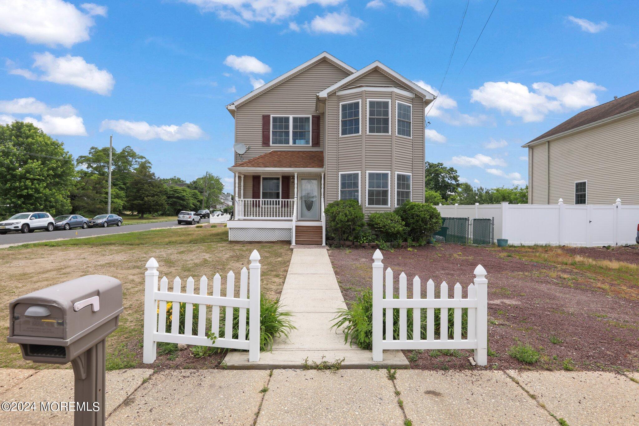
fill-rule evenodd
<path id="1" fill-rule="evenodd" d="M 324 169 L 324 151 L 277 149 L 229 167 L 230 171 L 249 169 Z"/>

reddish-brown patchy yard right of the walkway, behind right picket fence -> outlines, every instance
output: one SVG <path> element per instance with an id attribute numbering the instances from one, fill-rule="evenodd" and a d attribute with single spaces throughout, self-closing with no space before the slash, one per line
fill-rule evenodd
<path id="1" fill-rule="evenodd" d="M 373 250 L 330 250 L 346 301 L 371 286 Z M 472 247 L 443 244 L 383 252 L 397 277 L 466 287 L 488 271 L 488 367 L 639 370 L 639 248 Z M 422 297 L 426 285 L 422 284 Z M 516 360 L 518 356 L 534 363 Z M 512 348 L 512 349 L 511 349 Z M 509 355 L 509 352 L 513 355 Z M 404 351 L 413 368 L 465 369 L 472 351 Z"/>

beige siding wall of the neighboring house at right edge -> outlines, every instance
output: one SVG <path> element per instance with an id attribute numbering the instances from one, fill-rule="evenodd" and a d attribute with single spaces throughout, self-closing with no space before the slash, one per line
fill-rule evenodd
<path id="1" fill-rule="evenodd" d="M 588 204 L 639 204 L 638 159 L 639 114 L 552 140 L 550 203 L 574 204 L 574 183 L 587 180 Z"/>

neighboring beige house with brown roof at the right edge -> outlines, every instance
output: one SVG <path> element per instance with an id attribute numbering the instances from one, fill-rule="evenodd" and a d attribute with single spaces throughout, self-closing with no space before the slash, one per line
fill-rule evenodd
<path id="1" fill-rule="evenodd" d="M 639 204 L 639 91 L 582 111 L 523 147 L 529 204 Z"/>

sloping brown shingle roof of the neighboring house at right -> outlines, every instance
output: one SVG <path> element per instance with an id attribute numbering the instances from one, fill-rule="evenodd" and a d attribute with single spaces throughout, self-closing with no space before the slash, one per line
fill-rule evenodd
<path id="1" fill-rule="evenodd" d="M 639 111 L 639 91 L 622 96 L 610 102 L 602 103 L 601 105 L 597 105 L 596 107 L 592 107 L 585 111 L 581 111 L 579 114 L 576 114 L 560 125 L 551 128 L 543 135 L 535 137 L 535 139 L 523 146 L 526 147 L 530 144 L 534 144 L 535 142 L 546 141 L 546 139 L 550 139 L 553 136 L 577 131 L 585 126 L 597 125 L 600 121 L 609 121 L 620 114 L 631 114 L 633 110 Z"/>

